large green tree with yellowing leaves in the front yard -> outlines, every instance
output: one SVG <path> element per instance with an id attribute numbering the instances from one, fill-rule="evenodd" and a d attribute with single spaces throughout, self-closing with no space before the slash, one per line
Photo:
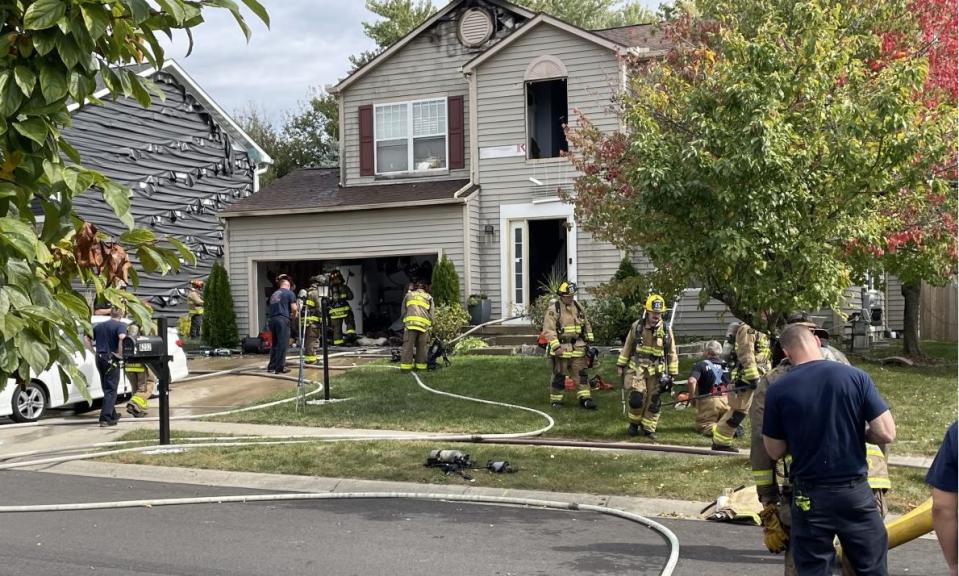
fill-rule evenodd
<path id="1" fill-rule="evenodd" d="M 926 62 L 878 66 L 881 34 L 920 53 L 907 0 L 700 0 L 667 24 L 674 47 L 630 62 L 626 130 L 571 130 L 582 225 L 640 248 L 660 285 L 701 286 L 774 329 L 839 306 L 885 213 L 950 148 L 955 107 L 930 109 Z M 694 15 L 698 12 L 699 15 Z M 936 185 L 938 186 L 938 184 Z M 872 264 L 875 264 L 873 261 Z"/>

